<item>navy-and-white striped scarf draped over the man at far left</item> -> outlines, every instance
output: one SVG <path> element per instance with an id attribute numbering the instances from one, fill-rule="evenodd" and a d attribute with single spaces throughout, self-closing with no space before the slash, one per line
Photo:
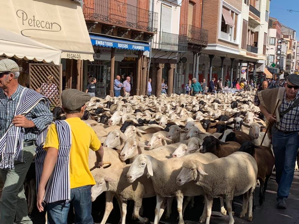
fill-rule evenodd
<path id="1" fill-rule="evenodd" d="M 49 107 L 47 98 L 34 90 L 24 88 L 21 92 L 14 116 L 25 116 L 41 100 L 44 100 L 45 104 Z M 40 132 L 39 136 L 44 132 L 46 132 L 46 130 Z M 2 161 L 0 162 L 1 169 L 14 169 L 14 161 L 26 162 L 23 160 L 24 134 L 25 128 L 10 124 L 6 133 L 0 139 L 0 155 L 2 155 Z M 39 136 L 37 138 L 39 138 Z"/>

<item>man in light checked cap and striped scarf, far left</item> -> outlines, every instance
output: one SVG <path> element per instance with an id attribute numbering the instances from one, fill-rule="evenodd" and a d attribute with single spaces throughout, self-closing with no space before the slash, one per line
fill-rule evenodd
<path id="1" fill-rule="evenodd" d="M 32 223 L 24 180 L 35 154 L 36 140 L 53 120 L 48 100 L 19 85 L 19 74 L 19 66 L 13 60 L 0 61 L 0 173 L 4 181 L 0 223 L 7 224 Z"/>

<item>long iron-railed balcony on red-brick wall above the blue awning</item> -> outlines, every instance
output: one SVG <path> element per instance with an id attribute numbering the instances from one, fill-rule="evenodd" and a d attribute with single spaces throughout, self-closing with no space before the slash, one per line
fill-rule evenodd
<path id="1" fill-rule="evenodd" d="M 85 1 L 85 20 L 125 27 L 149 33 L 157 33 L 158 13 L 138 8 L 116 0 Z"/>

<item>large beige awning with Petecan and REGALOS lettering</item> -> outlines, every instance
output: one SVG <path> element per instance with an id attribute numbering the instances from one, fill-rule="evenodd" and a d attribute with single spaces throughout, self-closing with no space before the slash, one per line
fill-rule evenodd
<path id="1" fill-rule="evenodd" d="M 72 0 L 0 0 L 0 27 L 62 50 L 62 58 L 93 61 L 82 8 Z"/>

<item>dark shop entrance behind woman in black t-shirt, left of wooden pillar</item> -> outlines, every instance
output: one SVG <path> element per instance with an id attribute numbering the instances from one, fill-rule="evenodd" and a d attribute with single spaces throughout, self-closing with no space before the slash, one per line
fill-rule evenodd
<path id="1" fill-rule="evenodd" d="M 93 76 L 97 79 L 96 96 L 105 97 L 110 85 L 110 65 L 89 64 L 88 72 L 89 76 Z"/>

